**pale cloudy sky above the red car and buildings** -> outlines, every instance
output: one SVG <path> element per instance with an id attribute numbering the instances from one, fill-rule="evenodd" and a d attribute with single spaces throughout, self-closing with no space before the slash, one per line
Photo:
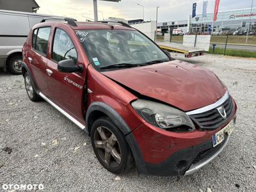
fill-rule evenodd
<path id="1" fill-rule="evenodd" d="M 145 8 L 145 20 L 156 20 L 156 7 L 158 9 L 158 22 L 186 20 L 191 15 L 192 4 L 197 3 L 196 13 L 201 14 L 204 0 L 122 0 L 119 3 L 99 1 L 99 20 L 108 17 L 118 17 L 126 20 L 142 19 Z M 214 0 L 209 0 L 207 12 L 213 12 Z M 93 0 L 36 0 L 40 8 L 37 13 L 73 17 L 77 20 L 93 19 Z M 219 11 L 250 8 L 252 0 L 220 0 Z M 253 4 L 256 6 L 256 1 Z M 102 18 L 103 16 L 103 18 Z"/>

